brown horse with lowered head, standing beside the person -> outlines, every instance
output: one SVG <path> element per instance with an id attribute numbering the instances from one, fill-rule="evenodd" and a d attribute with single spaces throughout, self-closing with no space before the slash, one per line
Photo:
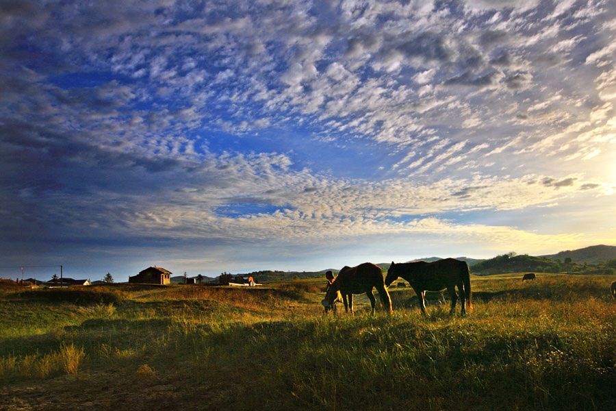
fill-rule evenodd
<path id="1" fill-rule="evenodd" d="M 385 308 L 387 312 L 392 312 L 392 299 L 389 297 L 387 288 L 385 288 L 381 267 L 370 262 L 364 262 L 352 268 L 344 266 L 344 268 L 339 271 L 337 277 L 329 284 L 322 304 L 327 310 L 335 304 L 338 295 L 342 294 L 344 310 L 346 312 L 349 310 L 353 312 L 353 294 L 363 294 L 365 292 L 372 305 L 371 314 L 374 314 L 376 299 L 374 298 L 374 294 L 372 294 L 372 288 L 376 288 L 378 291 L 383 308 Z"/>

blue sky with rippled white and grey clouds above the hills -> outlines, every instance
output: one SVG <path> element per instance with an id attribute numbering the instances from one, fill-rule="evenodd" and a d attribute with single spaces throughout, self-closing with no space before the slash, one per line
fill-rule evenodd
<path id="1" fill-rule="evenodd" d="M 616 245 L 615 56 L 614 0 L 3 0 L 0 277 Z"/>

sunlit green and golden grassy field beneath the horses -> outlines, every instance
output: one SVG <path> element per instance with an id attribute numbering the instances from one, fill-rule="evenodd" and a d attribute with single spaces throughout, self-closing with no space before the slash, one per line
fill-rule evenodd
<path id="1" fill-rule="evenodd" d="M 0 285 L 0 410 L 614 410 L 613 278 L 472 277 L 474 311 L 392 288 L 324 316 L 263 288 Z"/>

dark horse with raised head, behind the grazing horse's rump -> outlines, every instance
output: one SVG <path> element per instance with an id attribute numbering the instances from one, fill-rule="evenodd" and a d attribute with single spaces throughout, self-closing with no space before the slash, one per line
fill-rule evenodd
<path id="1" fill-rule="evenodd" d="M 466 314 L 465 300 L 468 304 L 468 312 L 472 311 L 471 290 L 470 290 L 470 271 L 468 264 L 464 261 L 446 258 L 435 262 L 405 262 L 389 266 L 385 285 L 390 286 L 398 277 L 406 279 L 415 290 L 419 299 L 419 305 L 423 314 L 426 314 L 426 303 L 424 295 L 427 291 L 440 291 L 447 288 L 451 298 L 450 314 L 456 309 L 456 286 L 462 304 L 462 315 Z"/>

